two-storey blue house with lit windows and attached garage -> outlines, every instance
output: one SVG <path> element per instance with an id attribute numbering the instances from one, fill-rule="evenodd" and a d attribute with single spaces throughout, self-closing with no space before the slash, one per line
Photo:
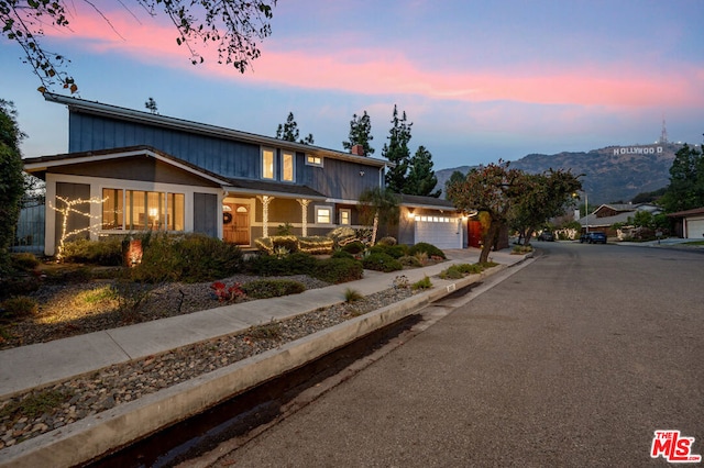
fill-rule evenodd
<path id="1" fill-rule="evenodd" d="M 24 159 L 24 170 L 46 181 L 45 254 L 54 255 L 65 200 L 86 215 L 69 216 L 67 232 L 90 227 L 90 238 L 144 230 L 201 232 L 253 246 L 290 224 L 294 233 L 324 235 L 361 227 L 358 200 L 384 186 L 384 159 L 287 142 L 230 129 L 45 93 L 69 111 L 68 153 Z M 353 148 L 353 151 L 359 148 Z M 359 153 L 359 152 L 355 152 Z M 424 210 L 404 243 L 450 239 L 462 216 L 443 200 Z M 432 221 L 422 216 L 432 215 Z M 447 220 L 447 221 L 446 221 Z M 413 235 L 411 235 L 413 231 Z M 441 233 L 444 232 L 444 234 Z M 462 235 L 460 235 L 462 237 Z M 437 244 L 441 248 L 463 243 Z"/>

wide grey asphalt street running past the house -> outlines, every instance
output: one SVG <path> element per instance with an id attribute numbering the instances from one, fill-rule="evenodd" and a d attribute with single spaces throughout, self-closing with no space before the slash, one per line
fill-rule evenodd
<path id="1" fill-rule="evenodd" d="M 212 466 L 668 466 L 658 430 L 704 454 L 704 255 L 538 247 Z"/>

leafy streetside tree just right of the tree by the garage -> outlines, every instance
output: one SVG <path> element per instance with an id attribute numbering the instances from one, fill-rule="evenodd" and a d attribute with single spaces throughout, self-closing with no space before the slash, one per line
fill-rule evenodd
<path id="1" fill-rule="evenodd" d="M 525 245 L 530 244 L 536 230 L 564 213 L 574 203 L 572 193 L 581 189 L 582 182 L 569 170 L 526 174 L 510 213 L 512 227 L 520 233 Z"/>

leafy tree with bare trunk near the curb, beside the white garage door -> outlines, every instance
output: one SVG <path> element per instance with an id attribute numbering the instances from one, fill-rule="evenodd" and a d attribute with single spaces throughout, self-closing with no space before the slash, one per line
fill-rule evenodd
<path id="1" fill-rule="evenodd" d="M 488 218 L 480 261 L 487 261 L 488 254 L 502 226 L 508 223 L 512 205 L 524 188 L 525 175 L 509 169 L 508 163 L 490 164 L 470 170 L 464 180 L 448 185 L 448 200 L 460 210 L 480 211 Z"/>

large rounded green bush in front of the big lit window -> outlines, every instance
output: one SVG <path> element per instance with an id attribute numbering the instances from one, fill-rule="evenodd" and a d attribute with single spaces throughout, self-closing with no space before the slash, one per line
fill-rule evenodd
<path id="1" fill-rule="evenodd" d="M 210 281 L 243 268 L 240 247 L 204 234 L 152 234 L 142 248 L 142 263 L 132 269 L 136 281 Z"/>

